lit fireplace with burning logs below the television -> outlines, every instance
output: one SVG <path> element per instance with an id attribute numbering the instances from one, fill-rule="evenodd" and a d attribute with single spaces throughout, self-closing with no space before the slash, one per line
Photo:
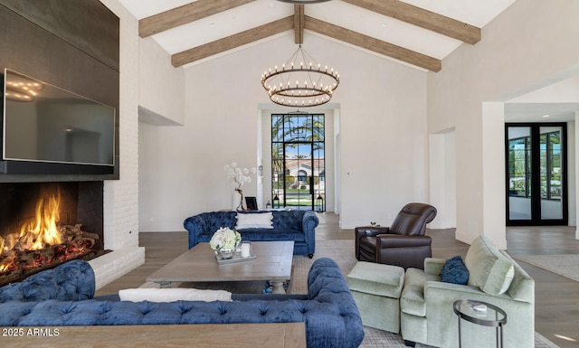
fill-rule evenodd
<path id="1" fill-rule="evenodd" d="M 0 286 L 103 246 L 103 182 L 0 183 Z"/>

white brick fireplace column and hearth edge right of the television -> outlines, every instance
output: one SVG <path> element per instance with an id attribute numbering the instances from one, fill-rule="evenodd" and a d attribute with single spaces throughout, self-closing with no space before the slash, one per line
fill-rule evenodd
<path id="1" fill-rule="evenodd" d="M 118 0 L 101 0 L 120 20 L 120 173 L 105 181 L 105 249 L 113 252 L 90 260 L 97 288 L 123 276 L 145 262 L 138 247 L 138 20 Z"/>

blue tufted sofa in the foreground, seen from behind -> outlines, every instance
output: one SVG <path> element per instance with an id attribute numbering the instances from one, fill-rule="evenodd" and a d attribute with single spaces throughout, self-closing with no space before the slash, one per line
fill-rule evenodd
<path id="1" fill-rule="evenodd" d="M 0 287 L 0 326 L 306 324 L 308 348 L 355 348 L 364 328 L 337 263 L 318 259 L 308 295 L 237 295 L 231 302 L 122 302 L 92 298 L 94 272 L 74 260 Z"/>

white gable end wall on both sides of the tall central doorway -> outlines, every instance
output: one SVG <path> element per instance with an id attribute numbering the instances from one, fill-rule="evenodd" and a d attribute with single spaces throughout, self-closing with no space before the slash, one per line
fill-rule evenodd
<path id="1" fill-rule="evenodd" d="M 304 48 L 341 76 L 342 227 L 387 225 L 404 203 L 426 202 L 426 73 L 308 31 Z M 140 193 L 141 230 L 184 230 L 188 216 L 231 207 L 223 165 L 258 165 L 259 108 L 271 103 L 261 73 L 296 49 L 288 33 L 185 69 L 185 126 L 140 127 L 139 177 L 154 186 Z M 256 182 L 244 194 L 257 196 Z"/>

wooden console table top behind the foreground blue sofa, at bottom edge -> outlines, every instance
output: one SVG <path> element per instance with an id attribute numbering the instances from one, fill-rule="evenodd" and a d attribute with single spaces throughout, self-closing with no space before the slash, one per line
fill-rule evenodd
<path id="1" fill-rule="evenodd" d="M 12 327 L 5 347 L 284 347 L 306 348 L 304 323 Z M 28 329 L 36 334 L 27 335 Z"/>

